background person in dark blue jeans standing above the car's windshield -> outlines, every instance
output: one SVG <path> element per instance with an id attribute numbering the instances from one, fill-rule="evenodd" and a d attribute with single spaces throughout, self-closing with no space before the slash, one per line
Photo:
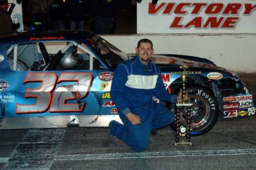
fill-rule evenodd
<path id="1" fill-rule="evenodd" d="M 115 0 L 91 0 L 91 12 L 96 34 L 114 34 L 116 28 Z"/>

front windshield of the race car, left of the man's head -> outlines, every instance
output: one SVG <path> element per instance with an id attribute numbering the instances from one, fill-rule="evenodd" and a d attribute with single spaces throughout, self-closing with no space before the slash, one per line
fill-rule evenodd
<path id="1" fill-rule="evenodd" d="M 108 63 L 111 67 L 117 66 L 121 62 L 129 59 L 127 54 L 123 53 L 117 47 L 98 35 L 94 34 L 92 38 L 88 38 L 88 41 L 100 58 Z"/>

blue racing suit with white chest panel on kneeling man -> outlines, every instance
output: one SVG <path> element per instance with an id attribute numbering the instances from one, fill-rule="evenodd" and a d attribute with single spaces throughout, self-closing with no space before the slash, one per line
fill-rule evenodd
<path id="1" fill-rule="evenodd" d="M 175 119 L 174 113 L 156 103 L 153 96 L 171 103 L 177 99 L 176 95 L 166 91 L 156 64 L 149 61 L 145 65 L 137 56 L 117 66 L 112 80 L 111 99 L 124 125 L 113 121 L 110 132 L 137 152 L 147 149 L 152 130 L 167 126 Z M 141 118 L 141 125 L 132 125 L 126 117 L 129 112 Z"/>

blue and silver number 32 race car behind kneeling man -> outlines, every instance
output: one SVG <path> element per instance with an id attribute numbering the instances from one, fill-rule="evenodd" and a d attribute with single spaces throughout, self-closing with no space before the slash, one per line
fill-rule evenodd
<path id="1" fill-rule="evenodd" d="M 90 31 L 25 32 L 0 37 L 0 129 L 106 127 L 121 123 L 110 89 L 118 64 L 135 57 Z M 191 136 L 218 120 L 255 114 L 253 96 L 232 71 L 204 58 L 153 55 L 169 92 L 182 87 L 190 103 Z M 176 111 L 175 104 L 162 102 Z M 180 109 L 186 124 L 187 109 Z"/>

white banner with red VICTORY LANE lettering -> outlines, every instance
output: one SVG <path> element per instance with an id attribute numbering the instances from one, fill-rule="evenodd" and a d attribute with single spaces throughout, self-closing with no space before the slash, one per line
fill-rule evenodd
<path id="1" fill-rule="evenodd" d="M 256 33 L 256 1 L 137 3 L 137 34 Z"/>

